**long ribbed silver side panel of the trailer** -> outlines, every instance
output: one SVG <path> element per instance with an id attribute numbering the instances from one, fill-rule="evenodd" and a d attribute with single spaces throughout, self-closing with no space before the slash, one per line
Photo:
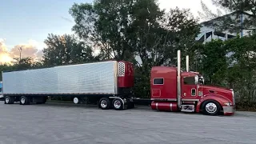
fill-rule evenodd
<path id="1" fill-rule="evenodd" d="M 117 66 L 111 61 L 3 72 L 3 94 L 117 94 Z"/>

